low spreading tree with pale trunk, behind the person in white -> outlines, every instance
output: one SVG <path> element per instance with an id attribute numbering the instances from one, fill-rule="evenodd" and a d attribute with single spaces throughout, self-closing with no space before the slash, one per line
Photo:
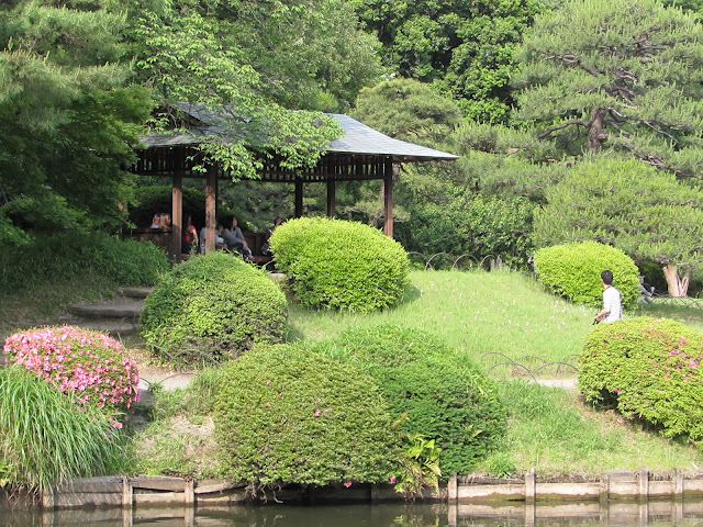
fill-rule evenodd
<path id="1" fill-rule="evenodd" d="M 703 269 L 703 192 L 637 160 L 600 159 L 547 189 L 535 215 L 539 246 L 592 239 L 663 269 L 669 294 L 685 296 Z"/>

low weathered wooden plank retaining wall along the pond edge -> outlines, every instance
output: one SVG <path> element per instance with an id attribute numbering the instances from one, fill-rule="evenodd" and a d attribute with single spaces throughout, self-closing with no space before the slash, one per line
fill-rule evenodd
<path id="1" fill-rule="evenodd" d="M 573 500 L 611 500 L 647 502 L 651 498 L 703 497 L 703 474 L 684 478 L 673 470 L 666 479 L 654 476 L 648 469 L 613 471 L 598 481 L 539 481 L 533 470 L 524 479 L 451 476 L 438 492 L 428 489 L 423 500 L 462 505 L 480 502 L 536 502 Z M 383 502 L 398 501 L 390 484 L 352 485 L 345 487 L 282 489 L 269 493 L 268 500 L 283 503 Z M 42 495 L 44 509 L 81 507 L 143 508 L 150 506 L 230 506 L 247 502 L 246 490 L 224 481 L 193 482 L 181 478 L 138 475 L 78 479 Z M 596 506 L 599 504 L 595 504 Z"/>

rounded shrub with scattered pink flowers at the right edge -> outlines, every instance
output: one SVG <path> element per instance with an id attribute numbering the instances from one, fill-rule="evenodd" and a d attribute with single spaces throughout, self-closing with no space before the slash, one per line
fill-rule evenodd
<path id="1" fill-rule="evenodd" d="M 703 335 L 669 319 L 601 324 L 587 337 L 579 389 L 667 436 L 703 437 Z"/>

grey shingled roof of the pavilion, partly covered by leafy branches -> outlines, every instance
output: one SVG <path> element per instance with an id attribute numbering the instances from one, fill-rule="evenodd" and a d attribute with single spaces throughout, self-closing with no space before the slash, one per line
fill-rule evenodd
<path id="1" fill-rule="evenodd" d="M 190 133 L 175 134 L 149 134 L 141 137 L 142 143 L 147 148 L 196 145 L 202 142 L 207 136 L 227 134 L 222 126 L 216 124 L 217 116 L 199 104 L 179 104 L 179 109 L 194 117 L 198 124 L 190 128 Z M 352 154 L 352 155 L 371 155 L 388 156 L 395 161 L 436 161 L 436 160 L 455 160 L 459 156 L 447 154 L 446 152 L 435 150 L 424 146 L 408 143 L 406 141 L 395 139 L 377 130 L 367 126 L 364 123 L 339 113 L 327 113 L 335 119 L 344 135 L 338 139 L 334 139 L 327 146 L 326 152 Z"/>

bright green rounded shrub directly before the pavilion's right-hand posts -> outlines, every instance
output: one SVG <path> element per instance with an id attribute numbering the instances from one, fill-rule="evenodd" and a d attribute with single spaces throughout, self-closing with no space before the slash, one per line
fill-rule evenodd
<path id="1" fill-rule="evenodd" d="M 405 249 L 369 225 L 300 217 L 279 226 L 270 244 L 303 305 L 369 312 L 398 304 L 409 283 Z"/>

